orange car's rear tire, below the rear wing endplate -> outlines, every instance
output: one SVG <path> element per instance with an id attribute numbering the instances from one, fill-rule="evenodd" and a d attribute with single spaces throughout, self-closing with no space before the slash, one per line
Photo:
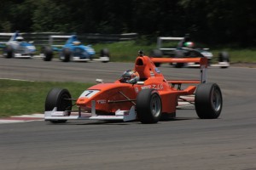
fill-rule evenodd
<path id="1" fill-rule="evenodd" d="M 223 106 L 222 93 L 218 84 L 199 84 L 195 91 L 195 111 L 201 119 L 216 119 Z"/>

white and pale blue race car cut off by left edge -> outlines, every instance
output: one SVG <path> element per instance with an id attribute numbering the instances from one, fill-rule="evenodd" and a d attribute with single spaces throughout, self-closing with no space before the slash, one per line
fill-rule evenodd
<path id="1" fill-rule="evenodd" d="M 9 42 L 0 42 L 3 47 L 3 56 L 6 58 L 32 58 L 36 52 L 32 42 L 25 42 L 19 31 L 2 33 L 0 36 L 11 36 Z"/>

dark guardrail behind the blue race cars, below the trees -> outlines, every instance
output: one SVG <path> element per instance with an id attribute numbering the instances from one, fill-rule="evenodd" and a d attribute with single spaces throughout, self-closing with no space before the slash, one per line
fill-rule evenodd
<path id="1" fill-rule="evenodd" d="M 0 42 L 8 42 L 13 33 L 0 33 Z M 49 44 L 49 36 L 70 36 L 73 33 L 63 32 L 20 32 L 26 42 L 34 42 L 35 45 L 44 46 Z M 81 42 L 96 43 L 96 42 L 122 42 L 137 39 L 137 33 L 125 34 L 77 34 Z M 58 41 L 57 39 L 55 41 Z M 59 40 L 63 42 L 63 39 Z"/>

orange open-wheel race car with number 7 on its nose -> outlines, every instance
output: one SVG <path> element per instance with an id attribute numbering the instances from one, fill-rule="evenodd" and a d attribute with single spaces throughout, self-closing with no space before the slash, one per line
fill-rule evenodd
<path id="1" fill-rule="evenodd" d="M 197 62 L 201 76 L 199 80 L 166 80 L 154 62 Z M 207 58 L 150 58 L 140 51 L 133 70 L 125 71 L 113 83 L 98 81 L 79 99 L 72 99 L 67 89 L 51 89 L 45 100 L 44 119 L 53 123 L 69 119 L 156 123 L 175 117 L 181 101 L 195 105 L 200 118 L 215 119 L 220 115 L 223 99 L 218 85 L 207 83 L 206 71 Z M 187 87 L 182 89 L 182 84 Z"/>

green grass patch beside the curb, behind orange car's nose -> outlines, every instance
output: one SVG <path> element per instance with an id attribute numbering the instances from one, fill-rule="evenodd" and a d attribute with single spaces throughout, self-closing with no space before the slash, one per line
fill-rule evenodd
<path id="1" fill-rule="evenodd" d="M 93 83 L 0 80 L 0 117 L 43 113 L 51 88 L 67 88 L 74 99 Z"/>

